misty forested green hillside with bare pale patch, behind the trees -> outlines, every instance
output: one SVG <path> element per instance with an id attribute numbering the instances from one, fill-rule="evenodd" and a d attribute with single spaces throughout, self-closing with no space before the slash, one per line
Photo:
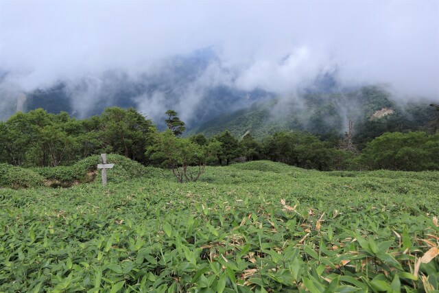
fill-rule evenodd
<path id="1" fill-rule="evenodd" d="M 359 143 L 384 132 L 429 130 L 436 114 L 429 102 L 396 104 L 392 95 L 379 86 L 365 86 L 346 93 L 305 93 L 298 97 L 270 99 L 222 115 L 187 135 L 203 133 L 211 137 L 226 129 L 241 137 L 250 130 L 263 139 L 279 130 L 305 130 L 323 138 L 340 137 L 353 121 Z M 384 110 L 383 110 L 384 109 Z M 388 110 L 388 115 L 380 110 Z"/>

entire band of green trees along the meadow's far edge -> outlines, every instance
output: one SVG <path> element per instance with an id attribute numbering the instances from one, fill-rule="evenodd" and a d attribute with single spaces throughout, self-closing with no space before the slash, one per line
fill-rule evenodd
<path id="1" fill-rule="evenodd" d="M 143 165 L 170 166 L 180 181 L 196 180 L 206 164 L 260 159 L 323 171 L 439 169 L 439 134 L 388 132 L 366 143 L 361 152 L 351 152 L 337 141 L 322 141 L 300 131 L 276 132 L 263 142 L 251 134 L 238 139 L 227 130 L 211 138 L 203 134 L 179 138 L 184 123 L 174 111 L 166 115 L 169 130 L 158 132 L 134 108 L 106 108 L 102 115 L 88 119 L 42 109 L 16 113 L 0 122 L 0 163 L 55 167 L 106 152 Z M 189 166 L 198 169 L 191 173 Z"/>

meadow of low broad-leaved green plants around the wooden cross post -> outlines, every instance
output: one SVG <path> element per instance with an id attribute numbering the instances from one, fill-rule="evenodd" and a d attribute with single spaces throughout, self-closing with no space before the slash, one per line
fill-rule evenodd
<path id="1" fill-rule="evenodd" d="M 86 160 L 0 165 L 0 292 L 438 289 L 439 172 L 253 161 L 180 184 L 109 156 L 102 187 Z"/>

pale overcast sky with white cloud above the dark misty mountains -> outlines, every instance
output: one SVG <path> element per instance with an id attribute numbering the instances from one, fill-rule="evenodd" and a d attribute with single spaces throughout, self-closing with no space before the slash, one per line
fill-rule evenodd
<path id="1" fill-rule="evenodd" d="M 439 99 L 436 0 L 0 0 L 0 69 L 25 90 L 203 47 L 241 89 L 293 91 L 337 69 L 344 84 Z"/>

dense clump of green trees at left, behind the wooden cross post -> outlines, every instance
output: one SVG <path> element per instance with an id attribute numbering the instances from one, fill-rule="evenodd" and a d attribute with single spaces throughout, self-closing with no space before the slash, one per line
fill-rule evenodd
<path id="1" fill-rule="evenodd" d="M 0 161 L 24 167 L 72 165 L 112 152 L 145 162 L 154 127 L 133 108 L 106 108 L 100 117 L 76 120 L 43 109 L 16 113 L 0 123 Z"/>

